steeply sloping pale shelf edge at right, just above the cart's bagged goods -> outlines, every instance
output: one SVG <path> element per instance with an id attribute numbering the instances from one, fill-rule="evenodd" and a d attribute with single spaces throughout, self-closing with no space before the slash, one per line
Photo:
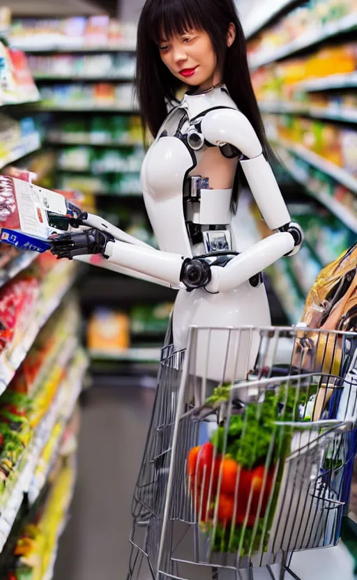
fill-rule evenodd
<path id="1" fill-rule="evenodd" d="M 312 190 L 311 188 L 307 187 L 306 176 L 303 173 L 300 173 L 298 168 L 294 167 L 294 164 L 291 163 L 291 159 L 289 158 L 289 153 L 287 153 L 284 148 L 278 148 L 278 155 L 284 162 L 284 165 L 288 169 L 291 176 L 293 176 L 294 179 L 298 181 L 298 183 L 304 185 L 305 189 L 311 195 L 311 197 L 317 199 L 317 201 L 323 204 L 331 211 L 331 213 L 338 217 L 342 223 L 349 227 L 351 231 L 354 231 L 357 234 L 357 215 L 354 215 L 351 211 L 340 204 L 337 199 L 334 199 L 331 197 L 331 195 L 324 192 L 323 190 Z"/>

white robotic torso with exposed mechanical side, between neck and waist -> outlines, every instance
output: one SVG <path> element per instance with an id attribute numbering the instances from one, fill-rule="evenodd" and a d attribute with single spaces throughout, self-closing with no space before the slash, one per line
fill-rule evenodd
<path id="1" fill-rule="evenodd" d="M 146 155 L 144 201 L 160 250 L 192 257 L 234 249 L 229 208 L 237 158 L 201 132 L 206 113 L 218 108 L 237 109 L 225 86 L 186 94 Z"/>

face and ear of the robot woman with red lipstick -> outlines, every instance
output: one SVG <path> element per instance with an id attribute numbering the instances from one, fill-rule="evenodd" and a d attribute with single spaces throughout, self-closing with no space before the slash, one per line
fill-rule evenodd
<path id="1" fill-rule="evenodd" d="M 234 25 L 229 26 L 227 46 L 234 41 Z M 205 31 L 192 29 L 181 36 L 163 38 L 159 45 L 162 62 L 176 78 L 204 91 L 221 81 L 217 56 Z"/>

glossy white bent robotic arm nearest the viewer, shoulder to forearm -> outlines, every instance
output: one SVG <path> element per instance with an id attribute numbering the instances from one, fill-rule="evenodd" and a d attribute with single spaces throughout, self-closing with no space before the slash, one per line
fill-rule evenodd
<path id="1" fill-rule="evenodd" d="M 217 293 L 233 289 L 282 256 L 298 251 L 303 234 L 297 224 L 291 223 L 278 183 L 248 119 L 235 109 L 215 109 L 204 116 L 201 128 L 209 143 L 216 146 L 229 143 L 238 149 L 239 161 L 261 215 L 268 228 L 276 232 L 231 259 L 225 268 L 211 268 L 211 282 L 206 290 Z"/>

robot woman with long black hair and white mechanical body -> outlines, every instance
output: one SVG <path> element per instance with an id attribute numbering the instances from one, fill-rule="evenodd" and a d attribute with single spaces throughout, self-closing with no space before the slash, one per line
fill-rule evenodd
<path id="1" fill-rule="evenodd" d="M 89 216 L 83 223 L 91 228 L 58 236 L 52 252 L 82 261 L 99 253 L 106 268 L 179 289 L 167 338 L 173 351 L 186 348 L 190 325 L 269 326 L 261 270 L 297 252 L 303 235 L 267 161 L 271 149 L 234 0 L 147 0 L 137 33 L 137 96 L 155 137 L 142 189 L 159 249 Z M 243 250 L 233 218 L 247 183 L 272 235 Z M 198 353 L 206 351 L 203 342 Z M 227 344 L 213 337 L 210 349 L 206 372 L 220 381 Z M 137 521 L 145 519 L 144 508 Z"/>

